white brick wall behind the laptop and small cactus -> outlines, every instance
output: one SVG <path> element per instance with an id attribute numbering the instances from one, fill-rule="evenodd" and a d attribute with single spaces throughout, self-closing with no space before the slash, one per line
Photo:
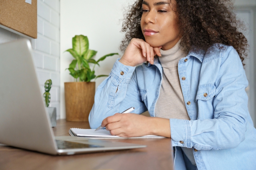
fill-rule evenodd
<path id="1" fill-rule="evenodd" d="M 0 28 L 0 43 L 23 38 Z M 52 79 L 51 107 L 60 118 L 60 0 L 37 0 L 37 39 L 31 45 L 35 67 L 44 93 L 44 82 Z"/>

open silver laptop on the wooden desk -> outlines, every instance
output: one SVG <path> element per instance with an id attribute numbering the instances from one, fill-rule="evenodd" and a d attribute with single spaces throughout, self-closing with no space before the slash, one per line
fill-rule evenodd
<path id="1" fill-rule="evenodd" d="M 54 137 L 28 39 L 0 44 L 0 143 L 52 155 L 146 147 L 80 137 Z"/>

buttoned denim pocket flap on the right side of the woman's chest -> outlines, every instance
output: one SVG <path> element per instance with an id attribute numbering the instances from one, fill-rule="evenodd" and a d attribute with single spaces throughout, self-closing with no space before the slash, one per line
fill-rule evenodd
<path id="1" fill-rule="evenodd" d="M 198 86 L 198 91 L 196 94 L 197 100 L 207 101 L 216 95 L 216 86 L 214 84 L 204 84 Z"/>

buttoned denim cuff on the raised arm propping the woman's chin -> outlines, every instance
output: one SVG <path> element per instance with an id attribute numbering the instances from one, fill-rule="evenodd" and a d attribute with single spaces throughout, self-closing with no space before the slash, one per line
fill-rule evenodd
<path id="1" fill-rule="evenodd" d="M 110 72 L 110 75 L 115 77 L 119 82 L 123 79 L 130 80 L 136 67 L 125 66 L 119 62 L 118 58 Z"/>

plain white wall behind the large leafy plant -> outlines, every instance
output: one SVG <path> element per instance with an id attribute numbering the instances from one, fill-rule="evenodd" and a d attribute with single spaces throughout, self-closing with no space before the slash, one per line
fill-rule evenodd
<path id="1" fill-rule="evenodd" d="M 65 118 L 64 82 L 74 81 L 69 75 L 72 56 L 65 50 L 72 48 L 72 37 L 83 34 L 89 39 L 89 48 L 98 51 L 96 59 L 107 53 L 120 53 L 123 38 L 123 8 L 134 0 L 60 0 L 60 117 Z M 109 57 L 96 66 L 96 75 L 109 74 L 119 56 Z M 96 80 L 96 88 L 105 78 Z"/>

